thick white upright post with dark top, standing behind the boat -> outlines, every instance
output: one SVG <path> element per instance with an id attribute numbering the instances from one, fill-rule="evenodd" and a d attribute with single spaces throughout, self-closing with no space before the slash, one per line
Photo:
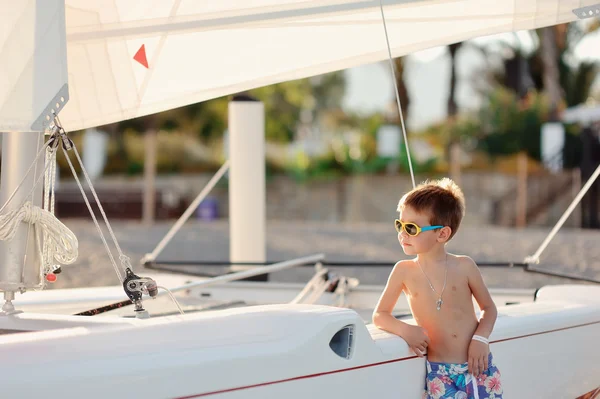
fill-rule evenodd
<path id="1" fill-rule="evenodd" d="M 265 110 L 235 96 L 229 103 L 229 260 L 266 262 Z M 244 269 L 238 267 L 236 270 Z"/>

